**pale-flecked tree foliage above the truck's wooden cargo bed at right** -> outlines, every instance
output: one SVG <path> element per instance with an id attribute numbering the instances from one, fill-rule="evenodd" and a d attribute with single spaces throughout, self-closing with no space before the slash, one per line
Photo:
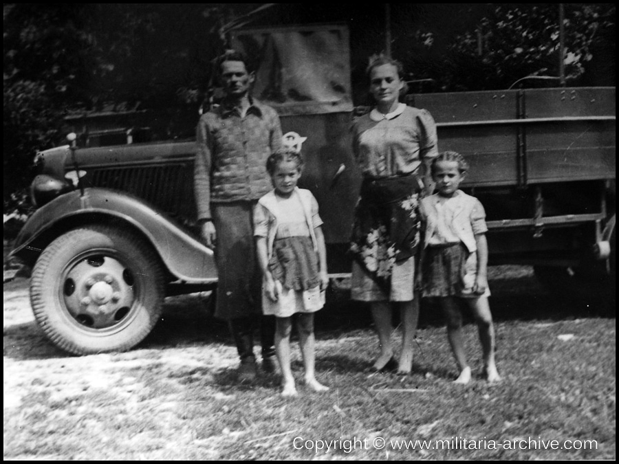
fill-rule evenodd
<path id="1" fill-rule="evenodd" d="M 560 75 L 558 3 L 497 3 L 475 27 L 454 37 L 442 87 L 450 90 L 507 89 L 527 76 Z M 569 85 L 587 82 L 595 59 L 611 56 L 607 85 L 614 85 L 615 6 L 564 3 L 564 76 Z M 605 52 L 605 53 L 604 53 Z M 597 54 L 598 56 L 594 56 Z M 589 77 L 589 81 L 591 81 Z M 609 82 L 609 81 L 612 82 Z"/>

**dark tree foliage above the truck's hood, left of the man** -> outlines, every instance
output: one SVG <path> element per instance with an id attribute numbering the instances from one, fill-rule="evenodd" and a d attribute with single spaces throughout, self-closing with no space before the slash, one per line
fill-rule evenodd
<path id="1" fill-rule="evenodd" d="M 221 47 L 221 7 L 209 5 L 4 5 L 5 212 L 24 197 L 36 151 L 63 142 L 69 113 L 151 109 L 169 113 L 163 131 L 182 109 L 195 118 Z"/>

